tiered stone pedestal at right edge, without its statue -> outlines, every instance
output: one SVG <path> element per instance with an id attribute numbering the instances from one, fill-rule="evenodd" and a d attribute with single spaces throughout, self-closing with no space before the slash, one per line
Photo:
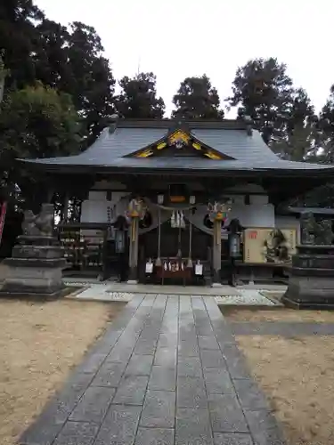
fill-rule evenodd
<path id="1" fill-rule="evenodd" d="M 296 309 L 334 309 L 334 246 L 297 246 L 281 301 Z"/>

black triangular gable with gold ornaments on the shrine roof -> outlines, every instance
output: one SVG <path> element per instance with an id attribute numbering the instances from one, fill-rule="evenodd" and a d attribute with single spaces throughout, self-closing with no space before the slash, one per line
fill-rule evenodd
<path id="1" fill-rule="evenodd" d="M 197 157 L 214 160 L 232 160 L 230 156 L 220 153 L 214 148 L 208 147 L 197 140 L 191 133 L 182 129 L 167 134 L 164 139 L 152 143 L 149 147 L 137 150 L 131 158 L 151 158 L 151 157 Z"/>

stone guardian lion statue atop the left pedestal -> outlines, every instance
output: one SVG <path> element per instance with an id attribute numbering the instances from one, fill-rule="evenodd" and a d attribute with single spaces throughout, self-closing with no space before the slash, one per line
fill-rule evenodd
<path id="1" fill-rule="evenodd" d="M 39 214 L 33 214 L 31 210 L 26 210 L 22 223 L 22 234 L 26 236 L 52 237 L 53 222 L 53 204 L 42 204 L 42 210 Z"/>

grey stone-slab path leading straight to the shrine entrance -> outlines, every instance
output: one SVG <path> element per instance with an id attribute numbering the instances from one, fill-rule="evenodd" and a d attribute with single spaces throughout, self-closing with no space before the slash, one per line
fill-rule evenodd
<path id="1" fill-rule="evenodd" d="M 214 298 L 136 295 L 20 443 L 283 441 Z"/>

